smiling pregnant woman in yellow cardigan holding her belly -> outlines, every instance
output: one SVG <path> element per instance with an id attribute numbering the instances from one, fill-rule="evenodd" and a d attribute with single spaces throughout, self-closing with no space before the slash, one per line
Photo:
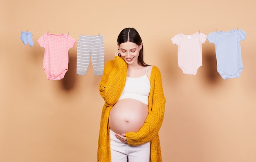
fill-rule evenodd
<path id="1" fill-rule="evenodd" d="M 134 28 L 121 31 L 117 48 L 99 83 L 105 103 L 98 162 L 162 162 L 158 133 L 166 99 L 161 73 L 144 62 L 142 40 Z"/>

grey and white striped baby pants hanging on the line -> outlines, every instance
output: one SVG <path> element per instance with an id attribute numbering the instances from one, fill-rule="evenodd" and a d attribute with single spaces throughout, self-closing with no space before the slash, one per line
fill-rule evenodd
<path id="1" fill-rule="evenodd" d="M 80 35 L 77 44 L 76 73 L 78 75 L 86 75 L 91 58 L 94 75 L 103 75 L 104 53 L 104 41 L 102 35 Z"/>

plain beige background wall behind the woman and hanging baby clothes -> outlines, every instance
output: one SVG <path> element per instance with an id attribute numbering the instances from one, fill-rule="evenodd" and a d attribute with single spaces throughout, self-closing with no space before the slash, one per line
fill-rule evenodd
<path id="1" fill-rule="evenodd" d="M 76 75 L 76 49 L 69 51 L 63 80 L 49 81 L 44 49 L 36 40 L 49 33 L 103 35 L 105 61 L 114 58 L 117 35 L 135 27 L 146 63 L 162 72 L 166 113 L 160 130 L 164 162 L 256 161 L 255 0 L 2 0 L 0 5 L 0 162 L 93 162 L 103 99 L 92 65 Z M 223 80 L 215 47 L 202 45 L 196 75 L 177 67 L 178 31 L 208 35 L 243 29 L 244 69 Z M 33 33 L 25 46 L 20 31 Z"/>

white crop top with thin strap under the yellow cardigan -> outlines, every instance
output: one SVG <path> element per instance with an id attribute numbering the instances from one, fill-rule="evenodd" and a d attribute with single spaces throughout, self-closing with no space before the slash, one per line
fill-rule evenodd
<path id="1" fill-rule="evenodd" d="M 123 92 L 118 100 L 124 98 L 132 98 L 148 105 L 150 81 L 148 80 L 147 72 L 148 66 L 146 67 L 145 75 L 139 78 L 126 77 L 126 83 Z"/>

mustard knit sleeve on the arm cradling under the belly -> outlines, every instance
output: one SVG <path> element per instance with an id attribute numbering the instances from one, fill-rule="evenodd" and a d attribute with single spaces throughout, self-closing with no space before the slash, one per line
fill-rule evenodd
<path id="1" fill-rule="evenodd" d="M 148 107 L 151 107 L 151 109 L 149 110 L 144 125 L 137 133 L 126 133 L 127 142 L 132 146 L 138 146 L 156 138 L 164 120 L 166 99 L 162 87 L 161 73 L 157 67 L 153 68 L 155 68 L 155 72 L 151 73 L 153 76 L 150 77 L 152 85 L 149 94 L 149 99 L 151 98 L 152 100 L 148 102 Z"/>

